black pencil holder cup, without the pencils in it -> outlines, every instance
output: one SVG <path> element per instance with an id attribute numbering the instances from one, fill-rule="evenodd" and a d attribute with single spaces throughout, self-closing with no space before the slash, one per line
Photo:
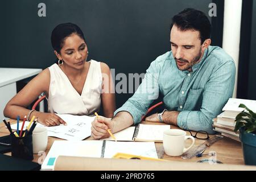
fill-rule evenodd
<path id="1" fill-rule="evenodd" d="M 33 160 L 33 143 L 32 135 L 28 134 L 25 137 L 15 137 L 11 134 L 11 156 L 16 158 Z"/>

